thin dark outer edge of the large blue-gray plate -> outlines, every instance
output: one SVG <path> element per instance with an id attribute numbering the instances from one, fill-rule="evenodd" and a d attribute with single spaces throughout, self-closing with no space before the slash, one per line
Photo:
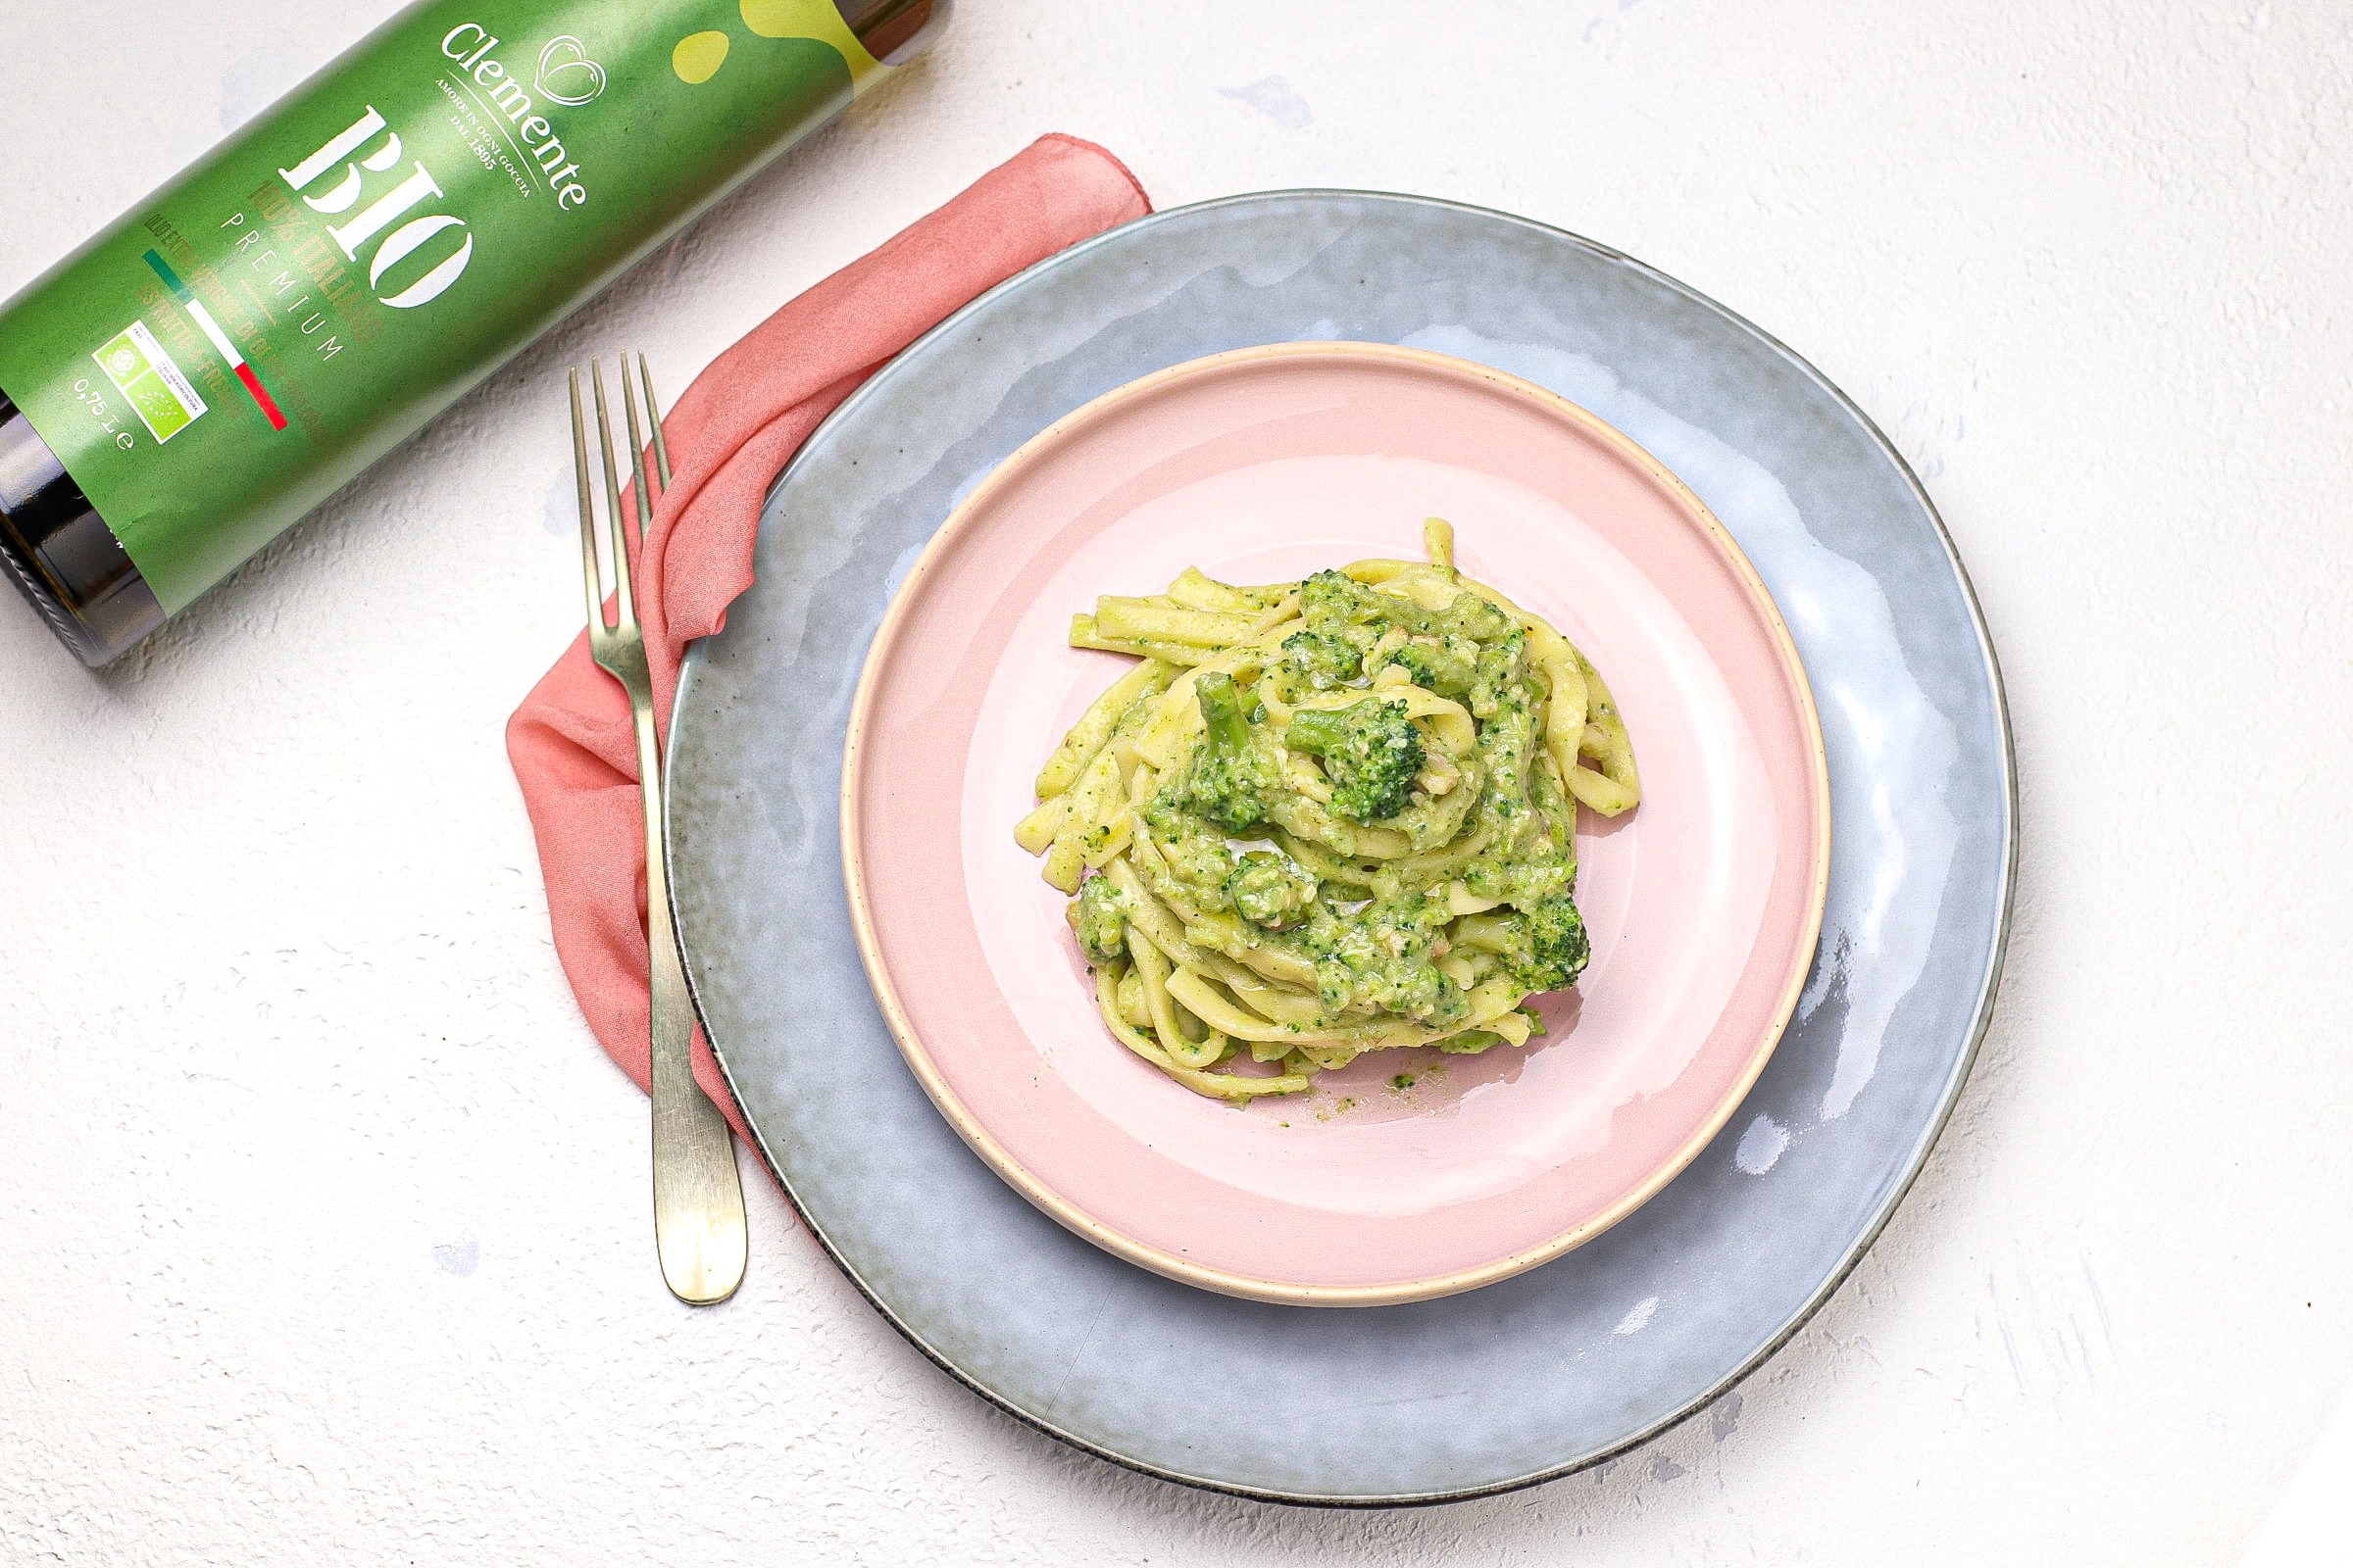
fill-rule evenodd
<path id="1" fill-rule="evenodd" d="M 1339 197 L 1339 200 L 1412 202 L 1412 205 L 1419 205 L 1419 207 L 1440 207 L 1440 209 L 1449 209 L 1449 212 L 1473 214 L 1473 216 L 1480 216 L 1480 219 L 1497 219 L 1497 221 L 1504 221 L 1504 223 L 1515 223 L 1515 226 L 1522 226 L 1522 228 L 1534 228 L 1534 230 L 1539 230 L 1544 235 L 1551 235 L 1553 240 L 1565 240 L 1565 242 L 1569 242 L 1569 244 L 1574 244 L 1574 247 L 1579 247 L 1584 252 L 1591 252 L 1591 254 L 1595 254 L 1595 256 L 1600 256 L 1605 261 L 1612 261 L 1617 266 L 1626 266 L 1626 268 L 1640 273 L 1642 277 L 1647 277 L 1649 282 L 1657 282 L 1657 284 L 1661 284 L 1661 287 L 1666 287 L 1666 289 L 1671 289 L 1675 294 L 1682 294 L 1682 296 L 1697 301 L 1697 303 L 1706 306 L 1708 310 L 1715 310 L 1718 315 L 1722 315 L 1722 317 L 1732 320 L 1734 324 L 1739 324 L 1741 329 L 1751 331 L 1760 343 L 1765 343 L 1777 355 L 1781 355 L 1793 369 L 1798 369 L 1802 376 L 1807 376 L 1821 390 L 1826 390 L 1838 402 L 1838 407 L 1842 407 L 1871 435 L 1871 440 L 1878 442 L 1880 451 L 1887 454 L 1887 458 L 1897 465 L 1897 473 L 1904 475 L 1904 482 L 1911 487 L 1913 496 L 1920 501 L 1920 510 L 1927 512 L 1929 524 L 1937 529 L 1937 543 L 1944 545 L 1944 555 L 1946 555 L 1946 559 L 1953 567 L 1955 581 L 1960 583 L 1962 604 L 1967 604 L 1967 609 L 1969 609 L 1969 625 L 1977 630 L 1977 646 L 1979 646 L 1979 654 L 1986 661 L 1986 677 L 1988 677 L 1991 689 L 1993 689 L 1993 712 L 1995 712 L 1995 722 L 2000 724 L 2000 733 L 2002 733 L 2002 844 L 2005 844 L 2005 856 L 2002 856 L 2002 879 L 2000 879 L 2000 910 L 1998 910 L 1995 926 L 1993 926 L 1993 952 L 1991 952 L 1991 957 L 1986 961 L 1986 978 L 1984 978 L 1984 983 L 1979 987 L 1977 1011 L 1969 1018 L 1969 1039 L 1962 1046 L 1960 1058 L 1953 1063 L 1953 1072 L 1946 1079 L 1944 1093 L 1937 1098 L 1934 1114 L 1929 1117 L 1929 1121 L 1922 1128 L 1918 1143 L 1913 1145 L 1911 1157 L 1906 1159 L 1904 1175 L 1897 1180 L 1894 1190 L 1887 1194 L 1887 1201 L 1880 1206 L 1880 1211 L 1871 1218 L 1871 1225 L 1864 1229 L 1864 1234 L 1857 1237 L 1857 1241 L 1847 1251 L 1847 1255 L 1838 1262 L 1835 1269 L 1831 1269 L 1831 1274 L 1824 1276 L 1824 1281 L 1814 1291 L 1814 1295 L 1809 1295 L 1798 1307 L 1798 1312 L 1793 1312 L 1788 1316 L 1788 1321 L 1784 1321 L 1781 1328 L 1777 1328 L 1732 1373 L 1727 1373 L 1715 1385 L 1711 1385 L 1708 1389 L 1704 1389 L 1701 1394 L 1697 1394 L 1694 1399 L 1689 1399 L 1682 1408 L 1678 1408 L 1678 1410 L 1668 1413 L 1666 1418 L 1652 1422 L 1649 1427 L 1642 1427 L 1640 1432 L 1633 1432 L 1633 1434 L 1619 1439 L 1617 1443 L 1609 1443 L 1607 1448 L 1595 1448 L 1591 1453 L 1584 1453 L 1584 1455 L 1577 1455 L 1572 1460 L 1565 1460 L 1565 1462 L 1560 1462 L 1560 1465 L 1555 1465 L 1551 1469 L 1539 1469 L 1539 1472 L 1532 1472 L 1532 1474 L 1525 1474 L 1525 1476 L 1511 1476 L 1511 1479 L 1504 1479 L 1504 1481 L 1492 1481 L 1487 1486 L 1473 1486 L 1473 1488 L 1459 1488 L 1459 1490 L 1445 1490 L 1445 1493 L 1407 1493 L 1407 1495 L 1393 1495 L 1393 1497 L 1285 1493 L 1285 1490 L 1271 1490 L 1271 1488 L 1235 1486 L 1231 1481 L 1212 1481 L 1207 1476 L 1191 1476 L 1191 1474 L 1184 1474 L 1184 1472 L 1176 1472 L 1176 1469 L 1162 1469 L 1158 1465 L 1148 1465 L 1148 1462 L 1127 1458 L 1122 1453 L 1113 1453 L 1113 1450 L 1101 1448 L 1101 1446 L 1096 1446 L 1096 1443 L 1092 1443 L 1092 1441 L 1087 1441 L 1082 1436 L 1064 1432 L 1061 1427 L 1056 1427 L 1052 1420 L 1047 1420 L 1042 1415 L 1024 1410 L 1021 1406 L 1012 1403 L 1009 1399 L 1005 1399 L 995 1389 L 986 1387 L 984 1382 L 979 1382 L 976 1378 L 972 1378 L 969 1373 L 965 1373 L 948 1356 L 944 1356 L 939 1349 L 934 1349 L 929 1342 L 925 1342 L 922 1335 L 918 1335 L 908 1324 L 904 1324 L 899 1319 L 899 1314 L 894 1314 L 873 1293 L 873 1288 L 866 1284 L 866 1279 L 842 1258 L 842 1253 L 833 1246 L 833 1239 L 824 1232 L 821 1225 L 816 1225 L 809 1218 L 809 1211 L 802 1208 L 800 1199 L 793 1194 L 793 1185 L 784 1178 L 784 1166 L 776 1161 L 774 1150 L 767 1147 L 767 1135 L 760 1131 L 760 1126 L 751 1119 L 751 1112 L 744 1107 L 744 1095 L 736 1088 L 734 1070 L 727 1065 L 727 1053 L 720 1048 L 718 1034 L 711 1030 L 711 1020 L 708 1020 L 708 1016 L 704 1011 L 701 990 L 699 990 L 696 978 L 694 978 L 694 964 L 687 961 L 687 964 L 682 964 L 682 969 L 687 971 L 687 994 L 694 999 L 694 1018 L 696 1018 L 696 1023 L 704 1025 L 704 1039 L 711 1041 L 711 1056 L 718 1060 L 720 1079 L 725 1079 L 725 1084 L 727 1084 L 727 1098 L 734 1105 L 736 1114 L 744 1119 L 744 1126 L 751 1128 L 753 1143 L 755 1143 L 755 1147 L 760 1152 L 760 1161 L 767 1166 L 769 1178 L 784 1192 L 784 1201 L 791 1204 L 793 1213 L 807 1227 L 809 1237 L 814 1237 L 816 1244 L 824 1248 L 826 1258 L 833 1260 L 833 1267 L 838 1267 L 842 1272 L 842 1276 L 859 1291 L 859 1295 L 866 1298 L 866 1302 L 882 1316 L 882 1321 L 889 1324 L 899 1333 L 899 1338 L 904 1338 L 908 1345 L 913 1345 L 922 1354 L 925 1361 L 929 1361 L 939 1371 L 948 1373 L 955 1382 L 965 1385 L 967 1389 L 972 1389 L 974 1394 L 979 1394 L 984 1401 L 988 1401 L 998 1410 L 1012 1415 L 1021 1425 L 1033 1427 L 1035 1432 L 1042 1432 L 1042 1434 L 1047 1434 L 1047 1436 L 1052 1436 L 1052 1439 L 1056 1439 L 1061 1443 L 1068 1443 L 1071 1448 L 1078 1448 L 1082 1453 L 1092 1453 L 1094 1458 L 1108 1460 L 1108 1462 L 1113 1462 L 1113 1465 L 1118 1465 L 1122 1469 L 1132 1469 L 1136 1474 L 1146 1474 L 1146 1476 L 1153 1476 L 1158 1481 L 1174 1481 L 1179 1486 L 1191 1486 L 1191 1488 L 1198 1488 L 1198 1490 L 1205 1490 L 1205 1493 L 1221 1493 L 1221 1495 L 1228 1495 L 1228 1497 L 1249 1497 L 1254 1502 L 1282 1502 L 1282 1505 L 1294 1505 L 1294 1507 L 1327 1507 L 1327 1509 L 1391 1509 L 1391 1507 L 1428 1507 L 1428 1505 L 1438 1505 L 1438 1502 L 1471 1502 L 1475 1497 L 1494 1497 L 1494 1495 L 1501 1495 L 1501 1493 L 1513 1493 L 1513 1490 L 1522 1490 L 1522 1488 L 1529 1488 L 1529 1486 L 1541 1486 L 1546 1481 L 1558 1481 L 1562 1476 L 1572 1476 L 1579 1469 L 1588 1469 L 1588 1467 L 1600 1465 L 1605 1460 L 1612 1460 L 1612 1458 L 1617 1458 L 1621 1453 L 1628 1453 L 1631 1448 L 1640 1448 L 1642 1443 L 1647 1443 L 1649 1439 L 1659 1436 L 1661 1432 L 1666 1432 L 1671 1427 L 1678 1427 L 1685 1420 L 1689 1420 L 1692 1415 L 1697 1415 L 1699 1410 L 1708 1408 L 1711 1403 L 1715 1403 L 1718 1399 L 1722 1399 L 1727 1392 L 1732 1392 L 1734 1387 L 1739 1387 L 1739 1382 L 1744 1382 L 1748 1378 L 1748 1373 L 1758 1371 L 1758 1366 L 1762 1366 L 1765 1361 L 1769 1361 L 1784 1345 L 1788 1345 L 1798 1335 L 1798 1331 L 1805 1328 L 1805 1324 L 1817 1312 L 1821 1312 L 1821 1307 L 1831 1300 L 1831 1295 L 1835 1295 L 1838 1288 L 1854 1274 L 1857 1265 L 1864 1260 L 1864 1253 L 1868 1253 L 1871 1246 L 1887 1229 L 1887 1222 L 1894 1218 L 1894 1211 L 1904 1204 L 1906 1194 L 1911 1194 L 1913 1182 L 1920 1180 L 1920 1171 L 1927 1166 L 1927 1159 L 1934 1152 L 1937 1140 L 1944 1135 L 1946 1124 L 1953 1119 L 1953 1107 L 1960 1103 L 1960 1091 L 1969 1081 L 1969 1070 L 1977 1065 L 1977 1051 L 1979 1051 L 1979 1046 L 1986 1039 L 1986 1030 L 1993 1025 L 1993 1004 L 1995 1004 L 1995 994 L 2000 992 L 2000 983 L 2002 983 L 2002 964 L 2005 964 L 2005 959 L 2009 954 L 2009 922 L 2012 922 L 2012 912 L 2014 912 L 2017 872 L 2019 872 L 2019 755 L 2017 755 L 2017 736 L 2014 736 L 2012 724 L 2009 724 L 2009 693 L 2007 693 L 2007 689 L 2002 684 L 2000 658 L 1993 651 L 1993 635 L 1986 628 L 1986 614 L 1984 614 L 1984 607 L 1977 599 L 1977 585 L 1969 581 L 1969 569 L 1962 564 L 1960 552 L 1953 548 L 1953 534 L 1944 527 L 1944 517 L 1937 512 L 1937 503 L 1929 498 L 1927 489 L 1920 484 L 1920 477 L 1913 473 L 1911 463 L 1904 461 L 1904 454 L 1897 451 L 1894 442 L 1887 440 L 1887 433 L 1882 433 L 1878 428 L 1878 423 L 1868 414 L 1864 414 L 1864 409 L 1852 397 L 1847 397 L 1845 390 L 1840 390 L 1828 376 L 1824 376 L 1819 369 L 1814 369 L 1814 364 L 1809 364 L 1802 355 L 1798 355 L 1786 343 L 1781 343 L 1781 339 L 1772 336 L 1769 331 L 1765 331 L 1762 327 L 1758 327 L 1755 322 L 1751 322 L 1746 315 L 1741 315 L 1737 310 L 1729 310 L 1727 306 L 1722 306 L 1715 299 L 1701 294 L 1699 289 L 1689 287 L 1687 282 L 1668 277 L 1666 273 L 1661 273 L 1661 270 L 1657 270 L 1657 268 L 1652 268 L 1652 266 L 1647 266 L 1642 261 L 1635 261 L 1626 252 L 1612 249 L 1612 247 L 1600 244 L 1595 240 L 1586 240 L 1584 235 L 1572 235 L 1565 228 L 1553 228 L 1551 223 L 1539 223 L 1534 219 L 1525 219 L 1525 216 L 1518 216 L 1518 214 L 1511 214 L 1511 212 L 1497 212 L 1492 207 L 1475 207 L 1471 202 L 1449 202 L 1449 200 L 1442 200 L 1442 197 L 1409 195 L 1409 193 L 1398 193 L 1398 190 L 1346 190 L 1346 188 L 1322 188 L 1322 186 L 1306 186 L 1306 188 L 1294 188 L 1294 190 L 1249 190 L 1249 193 L 1240 193 L 1240 195 L 1212 197 L 1207 202 L 1193 202 L 1188 207 L 1169 207 L 1169 209 L 1162 209 L 1162 212 L 1134 219 L 1129 223 L 1122 223 L 1118 228 L 1104 230 L 1101 235 L 1094 235 L 1089 240 L 1080 240 L 1078 244 L 1071 244 L 1071 247 L 1066 247 L 1061 252 L 1054 252 L 1052 256 L 1045 256 L 1045 259 L 1031 263 L 1028 268 L 1014 273 L 1005 282 L 1000 282 L 1000 284 L 991 287 L 988 292 L 974 296 L 969 303 L 965 303 L 962 308 L 958 308 L 955 313 L 951 313 L 948 317 L 944 317 L 936 327 L 932 327 L 929 331 L 925 331 L 922 336 L 918 336 L 913 343 L 908 343 L 904 350 L 899 350 L 899 355 L 889 364 L 885 364 L 873 376 L 868 376 L 854 393 L 849 393 L 849 397 L 845 397 L 840 404 L 835 404 L 835 409 L 800 444 L 800 451 L 793 454 L 793 461 L 786 463 L 784 470 L 779 470 L 776 480 L 769 482 L 767 491 L 762 491 L 762 510 L 767 508 L 769 501 L 774 501 L 776 491 L 784 487 L 784 482 L 800 465 L 800 454 L 807 451 L 809 447 L 814 447 L 816 437 L 824 435 L 835 421 L 845 418 L 852 409 L 856 409 L 859 404 L 864 404 L 864 400 L 868 397 L 868 393 L 878 383 L 882 383 L 896 369 L 896 364 L 901 360 L 906 360 L 906 355 L 911 355 L 913 350 L 922 348 L 932 339 L 953 331 L 955 327 L 962 324 L 962 320 L 967 315 L 976 313 L 984 303 L 993 301 L 998 294 L 1002 294 L 1002 292 L 1021 284 L 1033 270 L 1045 268 L 1045 266 L 1054 266 L 1054 263 L 1064 261 L 1066 256 L 1075 256 L 1080 252 L 1094 249 L 1094 247 L 1104 244 L 1106 240 L 1111 240 L 1113 235 L 1125 235 L 1129 228 L 1162 223 L 1162 221 L 1169 221 L 1169 219 L 1176 219 L 1176 216 L 1191 216 L 1191 214 L 1200 214 L 1200 212 L 1209 212 L 1209 209 L 1219 209 L 1219 207 L 1238 207 L 1238 205 L 1245 205 L 1245 202 L 1299 200 L 1299 197 L 1313 197 L 1313 200 Z M 671 701 L 671 729 L 668 729 L 668 736 L 666 736 L 666 743 L 664 743 L 664 773 L 668 773 L 671 766 L 675 764 L 678 717 L 687 710 L 687 693 L 692 691 L 694 675 L 696 675 L 696 670 L 701 668 L 701 661 L 704 661 L 701 644 L 704 644 L 704 639 L 696 639 L 694 644 L 689 644 L 687 646 L 687 656 L 680 663 L 678 689 L 675 689 L 673 701 Z M 664 820 L 661 820 L 664 856 L 671 856 L 671 844 L 673 844 L 673 832 L 675 832 L 673 830 L 673 820 L 671 820 L 671 811 L 668 811 L 668 799 L 671 797 L 666 792 L 664 795 Z M 675 865 L 675 858 L 673 858 L 673 865 Z M 678 950 L 680 950 L 680 954 L 692 954 L 692 947 L 687 945 L 687 936 L 685 936 L 685 931 L 678 924 L 678 900 L 671 900 L 671 929 L 678 936 Z"/>

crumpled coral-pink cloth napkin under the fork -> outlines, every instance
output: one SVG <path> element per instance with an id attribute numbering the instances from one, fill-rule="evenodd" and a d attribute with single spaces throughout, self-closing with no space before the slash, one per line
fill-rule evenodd
<path id="1" fill-rule="evenodd" d="M 1151 212 L 1104 148 L 1042 136 L 962 195 L 753 327 L 661 421 L 673 480 L 631 557 L 656 726 L 678 661 L 751 588 L 767 484 L 866 376 L 984 289 L 1066 244 Z M 588 1027 L 647 1086 L 645 830 L 628 698 L 588 658 L 586 630 L 506 722 L 506 755 L 539 839 L 555 954 Z M 694 1077 L 734 1114 L 696 1032 Z"/>

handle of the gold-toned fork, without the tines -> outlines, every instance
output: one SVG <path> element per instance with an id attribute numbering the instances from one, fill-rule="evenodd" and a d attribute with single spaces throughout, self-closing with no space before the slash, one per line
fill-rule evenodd
<path id="1" fill-rule="evenodd" d="M 638 719 L 638 776 L 645 780 L 645 938 L 654 1001 L 654 1251 L 661 1279 L 689 1307 L 708 1307 L 744 1284 L 751 1241 L 744 1180 L 727 1117 L 694 1081 L 694 1001 L 671 924 L 671 867 L 661 844 L 661 752 L 652 703 Z"/>

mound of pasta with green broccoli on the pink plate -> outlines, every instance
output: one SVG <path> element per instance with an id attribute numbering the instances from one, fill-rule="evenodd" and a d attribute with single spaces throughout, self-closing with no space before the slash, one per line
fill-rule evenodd
<path id="1" fill-rule="evenodd" d="M 1186 1088 L 1522 1046 L 1527 999 L 1586 966 L 1577 809 L 1640 797 L 1626 724 L 1558 630 L 1454 569 L 1447 522 L 1424 536 L 1428 562 L 1188 569 L 1071 623 L 1139 663 L 1014 837 L 1071 893 L 1104 1025 Z"/>

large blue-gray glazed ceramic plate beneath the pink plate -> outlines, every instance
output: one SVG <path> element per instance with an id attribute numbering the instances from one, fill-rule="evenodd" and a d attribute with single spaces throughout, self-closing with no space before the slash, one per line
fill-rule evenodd
<path id="1" fill-rule="evenodd" d="M 998 1180 L 892 1044 L 838 851 L 859 665 L 955 498 L 1099 393 L 1297 339 L 1497 364 L 1657 454 L 1788 616 L 1833 797 L 1817 966 L 1725 1133 L 1558 1262 L 1353 1312 L 1146 1274 Z M 1871 1246 L 1960 1091 L 2000 973 L 2014 820 L 2000 679 L 1960 562 L 1838 388 L 1586 240 L 1334 190 L 1129 223 L 899 355 L 779 480 L 758 583 L 689 654 L 671 729 L 696 1004 L 762 1154 L 835 1262 L 932 1361 L 1040 1429 L 1292 1502 L 1431 1502 L 1558 1476 L 1772 1354 Z M 1209 1347 L 1219 1373 L 1202 1378 Z"/>

